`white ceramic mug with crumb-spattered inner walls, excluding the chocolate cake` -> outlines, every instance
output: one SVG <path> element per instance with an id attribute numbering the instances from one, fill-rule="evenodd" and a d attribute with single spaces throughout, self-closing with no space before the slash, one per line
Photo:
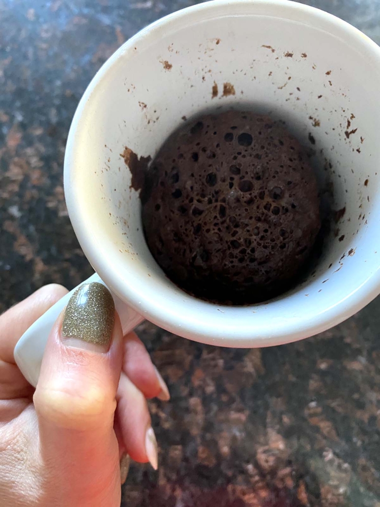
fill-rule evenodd
<path id="1" fill-rule="evenodd" d="M 244 103 L 285 119 L 315 149 L 320 184 L 330 182 L 333 209 L 345 213 L 305 281 L 267 303 L 225 307 L 189 296 L 158 267 L 121 154 L 153 157 L 184 118 Z M 102 66 L 72 121 L 65 194 L 98 273 L 89 280 L 110 289 L 124 332 L 146 318 L 203 343 L 262 347 L 331 328 L 380 292 L 379 132 L 380 48 L 340 19 L 280 0 L 214 0 L 157 21 Z M 17 344 L 34 385 L 70 294 Z"/>

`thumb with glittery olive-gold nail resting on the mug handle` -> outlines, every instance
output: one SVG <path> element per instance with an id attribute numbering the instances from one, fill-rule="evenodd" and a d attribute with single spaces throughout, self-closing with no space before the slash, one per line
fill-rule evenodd
<path id="1" fill-rule="evenodd" d="M 72 295 L 50 334 L 33 401 L 42 464 L 57 486 L 52 504 L 120 505 L 113 419 L 122 338 L 112 296 L 94 282 Z"/>

